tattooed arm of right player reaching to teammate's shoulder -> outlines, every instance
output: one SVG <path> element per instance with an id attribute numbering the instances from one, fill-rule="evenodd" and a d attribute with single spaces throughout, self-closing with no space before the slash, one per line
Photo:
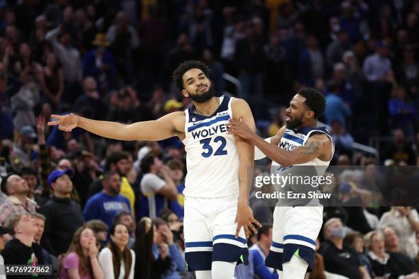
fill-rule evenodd
<path id="1" fill-rule="evenodd" d="M 246 124 L 244 124 L 244 122 L 230 120 L 229 131 L 248 139 L 264 152 L 266 156 L 272 159 L 272 161 L 283 166 L 307 163 L 322 155 L 331 156 L 331 154 L 329 154 L 329 150 L 331 150 L 331 140 L 324 134 L 309 137 L 304 146 L 299 146 L 292 150 L 283 150 L 279 146 L 266 142 L 262 137 L 256 135 Z"/>

